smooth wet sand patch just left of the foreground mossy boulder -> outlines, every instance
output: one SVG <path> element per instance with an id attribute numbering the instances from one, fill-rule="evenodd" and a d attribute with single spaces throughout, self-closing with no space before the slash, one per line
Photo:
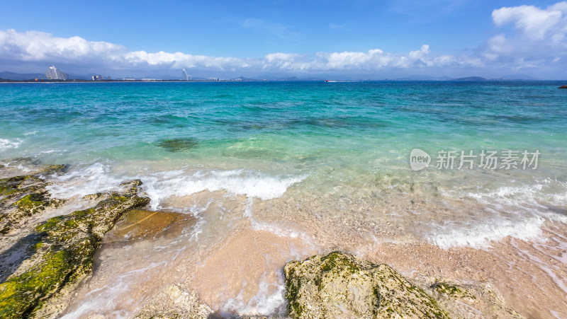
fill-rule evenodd
<path id="1" fill-rule="evenodd" d="M 222 313 L 285 313 L 282 269 L 291 260 L 318 253 L 300 238 L 254 231 L 245 223 L 196 268 L 188 284 Z"/>

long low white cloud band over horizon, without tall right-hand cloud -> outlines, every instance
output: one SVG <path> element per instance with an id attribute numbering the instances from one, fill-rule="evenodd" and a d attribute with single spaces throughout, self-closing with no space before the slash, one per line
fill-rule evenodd
<path id="1" fill-rule="evenodd" d="M 434 56 L 429 45 L 408 54 L 391 54 L 379 49 L 368 52 L 318 52 L 313 56 L 294 53 L 271 53 L 259 58 L 210 57 L 183 52 L 128 52 L 125 47 L 109 42 L 93 42 L 82 37 L 54 37 L 50 33 L 16 30 L 0 31 L 0 55 L 4 59 L 34 62 L 82 61 L 128 67 L 162 69 L 210 69 L 217 71 L 378 71 L 438 66 L 475 66 L 468 57 Z"/>

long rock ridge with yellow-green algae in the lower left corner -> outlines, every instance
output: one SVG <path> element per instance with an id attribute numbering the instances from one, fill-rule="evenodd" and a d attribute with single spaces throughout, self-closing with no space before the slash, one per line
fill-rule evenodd
<path id="1" fill-rule="evenodd" d="M 36 226 L 28 245 L 28 259 L 0 284 L 0 318 L 53 317 L 69 301 L 69 292 L 90 274 L 92 257 L 101 238 L 118 218 L 148 197 L 137 196 L 135 180 L 125 192 L 108 193 L 96 207 L 57 216 Z"/>

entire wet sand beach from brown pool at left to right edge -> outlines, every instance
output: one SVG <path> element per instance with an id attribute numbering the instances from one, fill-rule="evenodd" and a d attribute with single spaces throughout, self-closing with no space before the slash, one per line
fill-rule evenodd
<path id="1" fill-rule="evenodd" d="M 121 260 L 115 266 L 125 268 L 119 271 L 115 268 L 111 273 L 108 266 L 96 269 L 93 279 L 79 291 L 84 299 L 78 298 L 74 307 L 95 296 L 106 299 L 107 303 L 98 311 L 80 311 L 80 316 L 132 315 L 169 284 L 183 284 L 196 291 L 214 311 L 223 315 L 285 313 L 283 266 L 290 260 L 303 260 L 331 250 L 386 263 L 417 284 L 425 284 L 426 277 L 489 283 L 507 306 L 527 318 L 567 316 L 567 238 L 564 236 L 567 227 L 564 225 L 549 226 L 539 240 L 508 237 L 490 243 L 490 248 L 485 249 L 442 249 L 428 243 L 381 243 L 364 247 L 348 240 L 344 244 L 338 244 L 339 240 L 331 245 L 315 243 L 301 236 L 276 235 L 257 229 L 249 219 L 241 219 L 220 243 L 204 250 L 189 250 L 182 248 L 186 247 L 184 243 L 175 242 L 176 238 L 184 237 L 183 229 L 186 231 L 195 223 L 195 219 L 184 216 L 133 211 L 120 221 L 105 239 L 106 245 L 98 258 L 99 265 L 101 260 L 112 258 Z M 133 228 L 138 235 L 145 236 L 125 235 L 128 230 L 132 233 Z M 154 253 L 147 254 L 150 251 L 147 248 L 160 244 L 169 248 L 161 252 L 152 249 Z M 117 250 L 123 250 L 120 259 L 113 257 Z M 140 262 L 133 264 L 128 260 Z M 167 262 L 159 264 L 160 260 Z M 117 280 L 122 284 L 109 289 Z"/>

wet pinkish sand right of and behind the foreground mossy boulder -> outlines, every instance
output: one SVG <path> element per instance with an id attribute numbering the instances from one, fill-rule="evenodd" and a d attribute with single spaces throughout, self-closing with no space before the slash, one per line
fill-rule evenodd
<path id="1" fill-rule="evenodd" d="M 567 241 L 556 241 L 551 232 L 546 236 L 537 242 L 505 238 L 488 249 L 383 244 L 364 255 L 417 282 L 421 276 L 488 282 L 527 318 L 566 318 Z"/>

